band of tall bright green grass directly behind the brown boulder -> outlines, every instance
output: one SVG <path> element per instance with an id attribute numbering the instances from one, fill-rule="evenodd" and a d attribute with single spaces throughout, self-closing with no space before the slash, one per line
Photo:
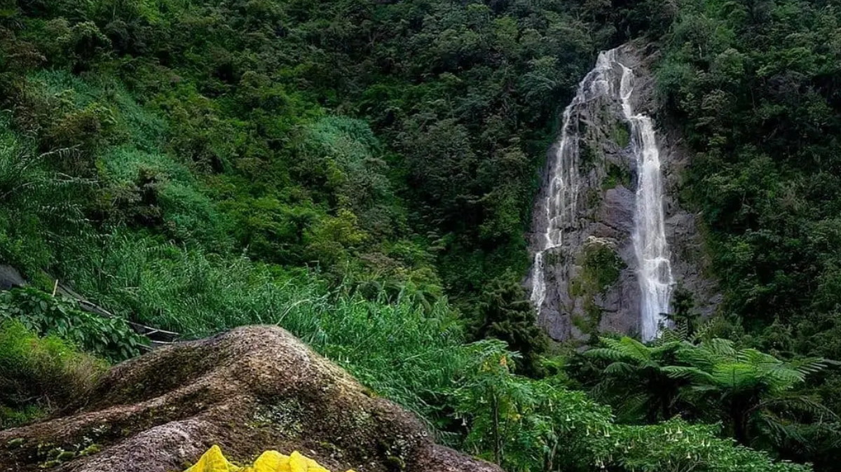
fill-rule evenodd
<path id="1" fill-rule="evenodd" d="M 434 416 L 469 360 L 462 323 L 444 299 L 425 306 L 403 294 L 330 290 L 307 270 L 136 233 L 113 233 L 97 254 L 77 254 L 63 269 L 78 291 L 106 307 L 187 338 L 255 323 L 286 328 L 379 395 L 424 417 Z"/>

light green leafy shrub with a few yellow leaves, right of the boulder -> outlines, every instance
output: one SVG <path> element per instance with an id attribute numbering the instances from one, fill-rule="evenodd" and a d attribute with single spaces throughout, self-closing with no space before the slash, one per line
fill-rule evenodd
<path id="1" fill-rule="evenodd" d="M 473 373 L 454 393 L 458 415 L 469 421 L 468 451 L 513 471 L 595 465 L 590 437 L 604 433 L 611 421 L 604 406 L 548 380 L 511 375 L 516 356 L 504 344 L 483 342 L 473 349 Z"/>

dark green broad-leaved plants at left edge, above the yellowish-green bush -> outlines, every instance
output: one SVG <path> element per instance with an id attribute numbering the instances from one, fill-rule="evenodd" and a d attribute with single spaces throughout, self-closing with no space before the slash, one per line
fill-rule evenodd
<path id="1" fill-rule="evenodd" d="M 108 359 L 140 354 L 148 341 L 121 318 L 84 312 L 76 301 L 34 288 L 0 292 L 0 321 L 17 320 L 35 333 L 53 335 Z"/>

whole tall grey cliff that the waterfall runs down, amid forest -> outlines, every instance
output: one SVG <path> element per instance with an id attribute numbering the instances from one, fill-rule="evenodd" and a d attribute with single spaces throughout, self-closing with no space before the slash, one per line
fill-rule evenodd
<path id="1" fill-rule="evenodd" d="M 668 122 L 656 119 L 658 106 L 649 70 L 655 54 L 650 47 L 623 45 L 611 51 L 609 60 L 602 55 L 581 81 L 578 96 L 564 112 L 558 139 L 548 151 L 533 210 L 529 236 L 535 263 L 526 286 L 539 308 L 538 323 L 556 340 L 604 332 L 653 335 L 652 328 L 644 330 L 641 323 L 641 311 L 648 309 L 650 314 L 652 309 L 643 307 L 637 262 L 641 258 L 633 235 L 641 218 L 637 200 L 646 192 L 638 188 L 640 123 L 632 127 L 629 116 L 654 117 L 659 150 L 663 219 L 659 222 L 655 215 L 655 223 L 649 226 L 664 230 L 667 247 L 653 252 L 668 257 L 656 270 L 661 274 L 658 281 L 672 284 L 650 297 L 658 300 L 653 302 L 653 311 L 662 309 L 659 305 L 668 306 L 670 293 L 678 289 L 692 294 L 701 315 L 717 307 L 720 296 L 715 283 L 705 276 L 706 258 L 696 218 L 677 199 L 689 155 L 681 148 L 680 134 Z M 627 68 L 626 80 L 630 80 L 625 89 L 632 91 L 626 94 L 624 109 L 621 66 Z M 650 173 L 646 182 L 650 185 Z M 643 290 L 646 287 L 651 289 L 650 280 L 643 283 Z"/>

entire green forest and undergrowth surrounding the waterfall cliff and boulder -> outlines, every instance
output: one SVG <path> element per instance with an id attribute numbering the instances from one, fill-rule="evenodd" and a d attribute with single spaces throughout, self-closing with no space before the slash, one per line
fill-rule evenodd
<path id="1" fill-rule="evenodd" d="M 550 343 L 521 281 L 546 149 L 600 50 L 657 50 L 722 290 Z M 833 0 L 16 0 L 0 9 L 0 428 L 146 340 L 278 324 L 514 471 L 841 459 Z M 117 317 L 56 296 L 71 286 Z"/>

